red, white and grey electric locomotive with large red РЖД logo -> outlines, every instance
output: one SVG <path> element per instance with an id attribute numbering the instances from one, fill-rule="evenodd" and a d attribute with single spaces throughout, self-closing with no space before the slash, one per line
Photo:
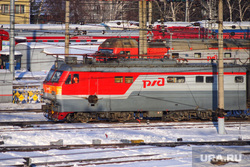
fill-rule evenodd
<path id="1" fill-rule="evenodd" d="M 74 58 L 71 58 L 74 60 Z M 218 98 L 216 64 L 169 59 L 101 58 L 56 62 L 43 83 L 45 116 L 54 121 L 211 119 Z M 224 66 L 225 110 L 249 108 L 249 72 Z"/>

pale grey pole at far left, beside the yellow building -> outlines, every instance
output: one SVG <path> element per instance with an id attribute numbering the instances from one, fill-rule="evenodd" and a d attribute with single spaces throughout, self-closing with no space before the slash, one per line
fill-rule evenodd
<path id="1" fill-rule="evenodd" d="M 15 0 L 10 0 L 10 54 L 9 54 L 9 70 L 13 73 L 13 80 L 15 80 Z"/>

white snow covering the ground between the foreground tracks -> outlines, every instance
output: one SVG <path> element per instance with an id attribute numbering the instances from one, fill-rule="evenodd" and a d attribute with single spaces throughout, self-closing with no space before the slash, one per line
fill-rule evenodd
<path id="1" fill-rule="evenodd" d="M 1 104 L 7 108 L 39 108 L 41 104 Z M 0 113 L 0 122 L 4 121 L 44 121 L 46 120 L 42 113 Z M 161 125 L 155 127 L 156 125 Z M 226 123 L 227 125 L 227 123 Z M 133 128 L 126 128 L 134 126 Z M 102 127 L 98 128 L 97 127 Z M 8 131 L 5 129 L 8 128 Z M 55 128 L 68 128 L 65 130 L 46 130 Z M 78 128 L 78 129 L 69 129 Z M 4 139 L 3 146 L 26 146 L 26 145 L 49 145 L 51 141 L 63 139 L 64 145 L 70 144 L 92 144 L 93 139 L 101 140 L 102 144 L 120 143 L 121 139 L 128 140 L 144 140 L 145 143 L 154 142 L 175 142 L 177 138 L 182 138 L 183 141 L 226 141 L 238 140 L 242 137 L 243 140 L 250 140 L 250 125 L 247 123 L 234 123 L 226 126 L 226 134 L 219 135 L 217 133 L 217 124 L 213 122 L 203 123 L 76 123 L 76 124 L 48 124 L 39 125 L 36 127 L 12 127 L 0 126 L 0 136 L 11 137 Z M 25 131 L 21 131 L 25 130 Z M 1 138 L 0 138 L 1 140 Z M 1 146 L 0 146 L 1 147 Z M 88 148 L 75 150 L 49 150 L 37 152 L 2 152 L 0 153 L 0 166 L 8 166 L 13 164 L 22 164 L 23 157 L 31 157 L 32 162 L 50 162 L 59 160 L 74 160 L 74 159 L 94 159 L 105 157 L 124 157 L 124 160 L 138 159 L 136 157 L 126 158 L 131 155 L 151 155 L 154 156 L 140 157 L 139 159 L 151 158 L 161 159 L 161 161 L 140 161 L 117 164 L 89 164 L 87 166 L 101 167 L 190 167 L 192 164 L 192 149 L 198 146 L 179 146 L 179 147 L 155 147 L 155 146 L 136 146 L 125 148 Z M 219 146 L 199 146 L 206 150 L 213 150 Z M 250 147 L 244 147 L 249 150 Z M 62 155 L 63 154 L 63 155 Z M 68 155 L 73 154 L 73 155 Z M 12 159 L 14 158 L 14 159 Z M 113 160 L 115 161 L 115 160 Z M 93 162 L 94 163 L 94 162 Z M 63 165 L 62 165 L 63 166 Z M 77 166 L 77 165 L 75 165 Z M 205 166 L 211 166 L 209 162 L 205 162 Z M 249 155 L 244 156 L 239 163 L 228 163 L 224 166 L 249 166 Z"/>

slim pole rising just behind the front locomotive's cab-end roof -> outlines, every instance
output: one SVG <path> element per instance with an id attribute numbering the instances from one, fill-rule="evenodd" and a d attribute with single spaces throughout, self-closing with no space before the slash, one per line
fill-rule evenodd
<path id="1" fill-rule="evenodd" d="M 69 0 L 66 0 L 66 9 L 65 9 L 65 61 L 69 57 Z"/>

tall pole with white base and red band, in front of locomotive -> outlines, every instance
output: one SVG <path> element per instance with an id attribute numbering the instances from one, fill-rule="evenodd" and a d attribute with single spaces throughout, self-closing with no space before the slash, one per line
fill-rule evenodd
<path id="1" fill-rule="evenodd" d="M 223 0 L 219 0 L 218 19 L 218 132 L 224 134 Z"/>

